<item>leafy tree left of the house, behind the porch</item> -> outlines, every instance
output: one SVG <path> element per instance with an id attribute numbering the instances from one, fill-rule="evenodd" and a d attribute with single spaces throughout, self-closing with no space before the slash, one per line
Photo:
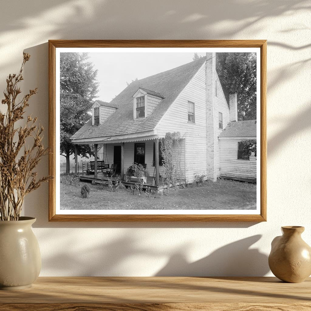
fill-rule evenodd
<path id="1" fill-rule="evenodd" d="M 75 152 L 70 137 L 91 118 L 92 100 L 98 92 L 97 70 L 88 58 L 88 53 L 60 55 L 60 152 L 66 157 L 66 174 Z M 91 146 L 78 146 L 78 155 L 88 158 L 93 154 Z"/>

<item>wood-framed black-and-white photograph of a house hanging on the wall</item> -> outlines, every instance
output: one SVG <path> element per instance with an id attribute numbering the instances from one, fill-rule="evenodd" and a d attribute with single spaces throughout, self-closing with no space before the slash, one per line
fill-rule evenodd
<path id="1" fill-rule="evenodd" d="M 266 40 L 50 40 L 50 221 L 266 221 Z"/>

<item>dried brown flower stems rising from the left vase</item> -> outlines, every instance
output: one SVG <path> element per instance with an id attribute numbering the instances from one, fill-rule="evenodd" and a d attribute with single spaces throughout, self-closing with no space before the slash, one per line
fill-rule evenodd
<path id="1" fill-rule="evenodd" d="M 40 187 L 41 183 L 52 179 L 45 176 L 37 180 L 34 171 L 41 157 L 48 154 L 48 148 L 42 145 L 42 126 L 37 127 L 37 117 L 27 117 L 25 126 L 15 128 L 15 123 L 24 119 L 26 107 L 31 96 L 37 93 L 30 90 L 21 100 L 18 83 L 23 79 L 22 72 L 25 63 L 30 59 L 28 53 L 23 53 L 24 59 L 18 74 L 7 77 L 7 88 L 3 92 L 2 104 L 7 105 L 5 114 L 0 112 L 0 213 L 1 220 L 18 220 L 24 197 Z M 26 139 L 34 139 L 31 147 L 26 147 Z"/>

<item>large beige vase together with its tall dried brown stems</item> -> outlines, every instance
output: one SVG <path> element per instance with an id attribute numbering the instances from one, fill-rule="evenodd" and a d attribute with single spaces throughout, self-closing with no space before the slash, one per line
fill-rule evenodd
<path id="1" fill-rule="evenodd" d="M 24 197 L 51 179 L 37 179 L 35 167 L 48 153 L 42 145 L 44 128 L 37 126 L 37 117 L 28 116 L 24 126 L 16 127 L 24 119 L 29 99 L 37 93 L 30 90 L 21 100 L 19 82 L 23 80 L 25 63 L 30 59 L 24 53 L 18 74 L 7 77 L 2 104 L 7 111 L 0 112 L 0 288 L 22 289 L 32 285 L 41 269 L 38 241 L 31 230 L 34 217 L 21 217 Z M 2 110 L 3 111 L 3 110 Z M 27 143 L 26 143 L 27 142 Z"/>

